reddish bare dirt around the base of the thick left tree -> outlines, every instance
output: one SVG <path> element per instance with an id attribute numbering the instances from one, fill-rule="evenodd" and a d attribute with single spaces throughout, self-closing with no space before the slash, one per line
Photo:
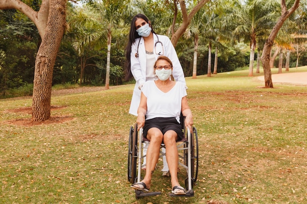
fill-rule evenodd
<path id="1" fill-rule="evenodd" d="M 66 106 L 51 106 L 51 111 L 60 110 L 65 108 Z M 32 114 L 32 107 L 25 107 L 25 108 L 18 108 L 18 109 L 11 109 L 6 110 L 4 113 L 27 113 Z M 21 118 L 15 120 L 7 120 L 4 123 L 17 125 L 17 126 L 34 126 L 34 125 L 46 125 L 46 124 L 56 124 L 56 123 L 63 123 L 66 121 L 70 121 L 74 119 L 69 115 L 60 115 L 60 116 L 52 116 L 50 119 L 40 122 L 33 122 L 31 118 Z"/>

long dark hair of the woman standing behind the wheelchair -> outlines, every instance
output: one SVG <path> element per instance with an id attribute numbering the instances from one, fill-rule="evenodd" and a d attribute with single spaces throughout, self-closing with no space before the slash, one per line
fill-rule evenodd
<path id="1" fill-rule="evenodd" d="M 132 72 L 131 72 L 131 63 L 130 63 L 131 46 L 137 38 L 141 37 L 139 36 L 139 34 L 136 32 L 136 29 L 135 29 L 135 21 L 137 19 L 143 19 L 144 21 L 146 21 L 146 23 L 149 23 L 148 18 L 144 14 L 137 14 L 132 18 L 131 25 L 130 25 L 130 31 L 129 31 L 129 40 L 125 48 L 126 62 L 124 65 L 124 69 L 125 69 L 125 75 L 126 75 L 125 80 L 126 81 L 128 81 L 129 79 L 133 77 Z M 152 27 L 152 25 L 150 26 Z M 153 27 L 152 27 L 152 32 L 155 34 L 155 32 L 153 31 Z"/>

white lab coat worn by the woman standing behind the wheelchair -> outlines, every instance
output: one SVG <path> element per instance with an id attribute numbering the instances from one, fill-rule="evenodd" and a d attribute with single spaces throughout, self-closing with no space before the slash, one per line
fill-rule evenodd
<path id="1" fill-rule="evenodd" d="M 183 70 L 172 42 L 165 35 L 157 35 L 157 36 L 159 38 L 159 41 L 162 43 L 163 48 L 161 43 L 157 43 L 156 46 L 153 47 L 153 54 L 155 59 L 157 59 L 160 56 L 158 55 L 159 53 L 160 54 L 163 53 L 163 55 L 168 57 L 173 63 L 172 74 L 174 76 L 174 79 L 176 81 L 183 83 L 186 87 Z M 155 45 L 155 43 L 158 41 L 157 36 L 153 34 L 153 45 Z M 139 41 L 140 41 L 138 48 L 139 57 L 135 57 Z M 136 83 L 133 90 L 129 113 L 137 115 L 137 109 L 140 105 L 140 100 L 141 100 L 141 90 L 139 90 L 138 87 L 140 85 L 143 85 L 146 81 L 146 51 L 145 51 L 145 44 L 143 38 L 136 39 L 133 45 L 131 46 L 130 63 L 131 63 L 131 72 Z"/>

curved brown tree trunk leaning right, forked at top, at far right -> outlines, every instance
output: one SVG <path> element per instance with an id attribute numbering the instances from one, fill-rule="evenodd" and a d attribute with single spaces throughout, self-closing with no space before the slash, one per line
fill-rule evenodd
<path id="1" fill-rule="evenodd" d="M 277 23 L 273 27 L 268 39 L 264 44 L 261 56 L 261 62 L 264 71 L 264 83 L 265 87 L 267 88 L 273 88 L 272 73 L 270 68 L 270 51 L 272 49 L 273 42 L 275 40 L 278 31 L 281 29 L 282 24 L 297 9 L 299 3 L 300 0 L 295 0 L 293 6 L 289 10 L 287 10 L 285 0 L 281 0 L 281 17 L 278 19 Z"/>

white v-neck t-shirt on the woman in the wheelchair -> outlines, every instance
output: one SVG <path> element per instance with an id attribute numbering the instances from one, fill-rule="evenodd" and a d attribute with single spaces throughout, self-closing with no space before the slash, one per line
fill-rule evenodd
<path id="1" fill-rule="evenodd" d="M 170 91 L 164 93 L 156 87 L 154 81 L 147 81 L 142 87 L 142 92 L 147 97 L 146 120 L 155 117 L 176 117 L 179 122 L 181 100 L 187 95 L 184 84 L 176 82 Z"/>

